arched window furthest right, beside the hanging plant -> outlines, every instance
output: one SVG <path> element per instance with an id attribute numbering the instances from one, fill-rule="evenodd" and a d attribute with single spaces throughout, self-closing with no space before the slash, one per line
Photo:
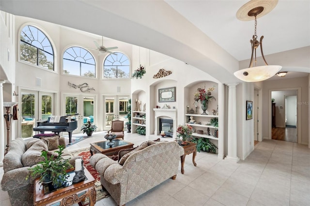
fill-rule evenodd
<path id="1" fill-rule="evenodd" d="M 116 54 L 116 55 L 114 55 Z M 120 52 L 110 54 L 103 64 L 103 78 L 129 78 L 129 59 Z"/>

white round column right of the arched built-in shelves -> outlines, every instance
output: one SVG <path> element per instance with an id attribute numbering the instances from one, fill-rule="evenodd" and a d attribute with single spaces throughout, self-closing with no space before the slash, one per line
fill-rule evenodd
<path id="1" fill-rule="evenodd" d="M 240 160 L 237 157 L 236 86 L 238 83 L 226 85 L 228 86 L 227 158 L 238 162 Z"/>

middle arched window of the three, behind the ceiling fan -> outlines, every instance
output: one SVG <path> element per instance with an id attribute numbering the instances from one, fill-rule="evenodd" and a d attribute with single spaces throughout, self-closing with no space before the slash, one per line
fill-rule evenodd
<path id="1" fill-rule="evenodd" d="M 86 49 L 78 46 L 70 47 L 63 53 L 62 73 L 95 78 L 95 59 Z"/>

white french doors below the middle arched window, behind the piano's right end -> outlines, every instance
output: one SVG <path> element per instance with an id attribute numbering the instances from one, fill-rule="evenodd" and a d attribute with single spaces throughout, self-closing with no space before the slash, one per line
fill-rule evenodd
<path id="1" fill-rule="evenodd" d="M 78 128 L 73 133 L 81 132 L 81 126 L 87 121 L 96 124 L 96 99 L 96 95 L 63 94 L 62 114 L 73 115 L 78 122 Z"/>

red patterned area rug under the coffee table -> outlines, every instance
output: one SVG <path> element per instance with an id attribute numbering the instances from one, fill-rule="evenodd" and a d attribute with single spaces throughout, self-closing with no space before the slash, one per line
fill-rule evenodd
<path id="1" fill-rule="evenodd" d="M 84 167 L 91 173 L 93 178 L 96 179 L 96 183 L 95 183 L 95 190 L 96 190 L 96 193 L 97 193 L 96 202 L 98 202 L 99 200 L 101 200 L 103 198 L 109 197 L 110 194 L 109 194 L 108 191 L 102 189 L 101 183 L 100 183 L 100 175 L 93 168 L 93 166 L 89 163 L 89 160 L 91 158 L 91 153 L 90 153 L 89 149 L 90 148 L 79 149 L 79 150 L 76 150 L 76 151 L 72 151 L 71 154 L 73 156 L 81 156 L 81 157 L 83 157 Z M 86 205 L 88 203 L 89 203 L 88 198 L 86 198 L 85 202 L 84 201 L 82 202 L 83 205 Z"/>

